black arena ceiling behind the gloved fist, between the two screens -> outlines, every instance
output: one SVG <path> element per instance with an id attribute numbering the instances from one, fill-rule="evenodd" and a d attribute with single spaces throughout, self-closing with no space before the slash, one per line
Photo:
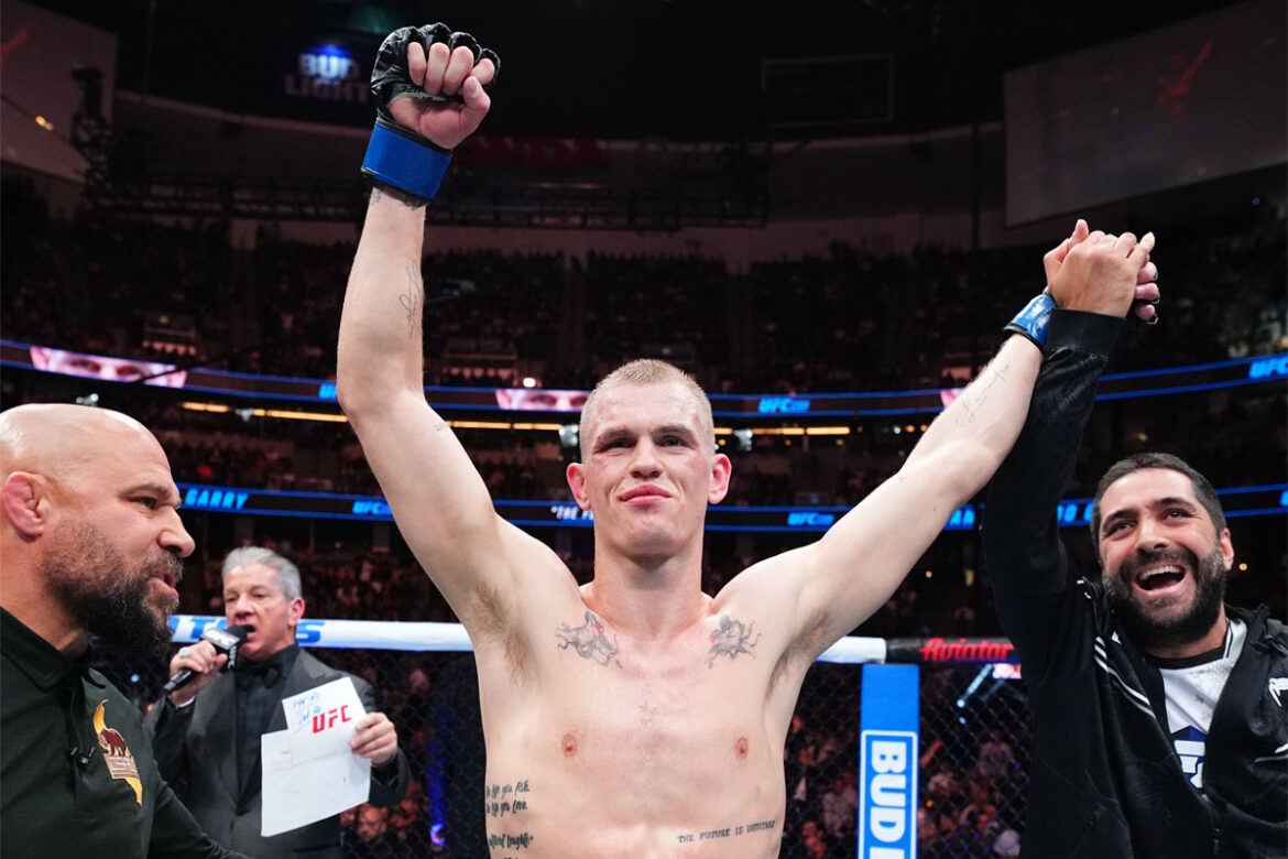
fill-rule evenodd
<path id="1" fill-rule="evenodd" d="M 292 99 L 283 76 L 310 46 L 335 45 L 365 63 L 386 32 L 428 23 L 428 15 L 477 33 L 501 54 L 505 98 L 488 118 L 489 133 L 674 140 L 914 133 L 999 120 L 1009 70 L 1231 5 L 35 1 L 118 36 L 120 89 L 357 125 L 370 121 L 366 106 Z"/>

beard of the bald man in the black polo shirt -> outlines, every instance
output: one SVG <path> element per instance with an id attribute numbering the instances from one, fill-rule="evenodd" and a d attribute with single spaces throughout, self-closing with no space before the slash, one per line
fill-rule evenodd
<path id="1" fill-rule="evenodd" d="M 171 598 L 153 609 L 148 582 L 160 571 L 179 581 L 183 563 L 160 546 L 155 551 L 131 567 L 111 540 L 79 523 L 68 540 L 43 559 L 41 572 L 77 626 L 126 650 L 164 661 L 170 647 L 166 617 L 179 605 Z"/>

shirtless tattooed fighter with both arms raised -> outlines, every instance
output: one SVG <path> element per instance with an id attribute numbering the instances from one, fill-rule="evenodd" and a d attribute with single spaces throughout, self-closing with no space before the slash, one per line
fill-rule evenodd
<path id="1" fill-rule="evenodd" d="M 711 406 L 670 364 L 620 368 L 586 403 L 582 461 L 568 466 L 595 515 L 594 581 L 578 587 L 554 551 L 496 515 L 421 386 L 422 206 L 487 113 L 495 73 L 495 55 L 442 26 L 381 46 L 363 166 L 375 187 L 337 375 L 399 529 L 474 643 L 492 856 L 777 856 L 783 743 L 805 671 L 885 603 L 1010 449 L 1042 362 L 1033 317 L 1050 300 L 1021 314 L 1024 336 L 895 478 L 817 543 L 714 598 L 701 590 L 703 518 L 730 464 Z M 1137 278 L 1153 276 L 1153 243 L 1079 222 L 1045 259 L 1055 301 L 1126 316 Z"/>

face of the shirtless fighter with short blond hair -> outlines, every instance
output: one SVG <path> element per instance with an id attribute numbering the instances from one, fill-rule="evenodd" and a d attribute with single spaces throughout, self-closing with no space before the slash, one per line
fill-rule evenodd
<path id="1" fill-rule="evenodd" d="M 707 504 L 729 488 L 693 394 L 680 382 L 622 385 L 600 395 L 589 456 L 568 467 L 596 532 L 629 556 L 674 555 L 701 538 Z"/>

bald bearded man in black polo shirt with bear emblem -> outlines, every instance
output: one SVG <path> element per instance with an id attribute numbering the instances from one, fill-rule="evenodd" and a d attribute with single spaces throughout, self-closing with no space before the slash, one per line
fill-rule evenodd
<path id="1" fill-rule="evenodd" d="M 192 537 L 152 433 L 88 406 L 0 415 L 0 855 L 233 856 L 161 779 L 90 636 L 161 658 Z"/>

